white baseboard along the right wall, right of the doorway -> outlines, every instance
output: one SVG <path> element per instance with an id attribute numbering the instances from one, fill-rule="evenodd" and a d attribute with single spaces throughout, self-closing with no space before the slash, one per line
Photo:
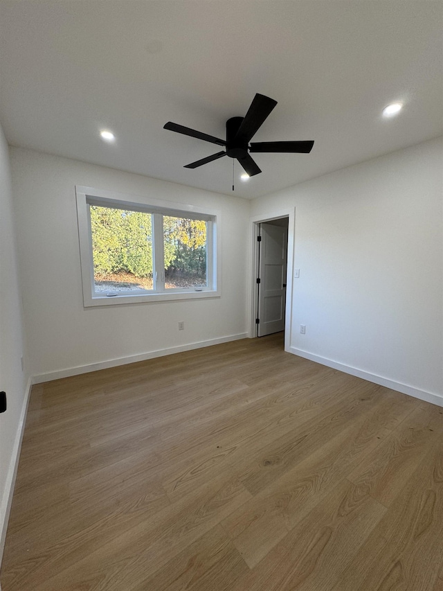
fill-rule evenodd
<path id="1" fill-rule="evenodd" d="M 339 371 L 343 371 L 343 373 L 350 373 L 351 376 L 368 380 L 368 382 L 373 382 L 379 386 L 385 386 L 391 390 L 401 392 L 401 394 L 407 394 L 408 396 L 419 398 L 419 400 L 424 400 L 427 403 L 443 407 L 443 396 L 440 396 L 439 394 L 433 394 L 432 392 L 420 390 L 413 386 L 396 382 L 395 380 L 390 380 L 389 378 L 383 378 L 382 376 L 377 376 L 376 373 L 370 373 L 368 371 L 363 371 L 363 369 L 358 369 L 350 365 L 338 363 L 337 361 L 320 357 L 320 355 L 314 355 L 314 353 L 309 353 L 308 351 L 303 351 L 302 349 L 296 349 L 296 347 L 289 347 L 288 351 L 289 353 L 293 353 L 293 355 L 298 355 L 299 357 L 315 361 L 316 363 L 326 365 L 327 367 L 338 369 Z"/>

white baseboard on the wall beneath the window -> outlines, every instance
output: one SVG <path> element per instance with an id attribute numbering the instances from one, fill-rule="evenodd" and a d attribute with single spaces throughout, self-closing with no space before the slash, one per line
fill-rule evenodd
<path id="1" fill-rule="evenodd" d="M 247 337 L 247 333 L 240 333 L 238 335 L 228 335 L 226 337 L 219 337 L 217 339 L 208 339 L 207 341 L 199 341 L 196 343 L 188 343 L 186 345 L 169 347 L 168 349 L 157 349 L 156 351 L 148 351 L 147 353 L 141 353 L 141 355 L 129 355 L 129 357 L 110 359 L 98 363 L 80 365 L 78 367 L 69 367 L 68 369 L 60 369 L 60 371 L 49 371 L 48 373 L 39 373 L 39 375 L 33 376 L 33 384 L 51 382 L 51 380 L 60 380 L 60 378 L 70 378 L 71 376 L 78 376 L 80 375 L 80 373 L 89 373 L 89 371 L 98 371 L 98 369 L 109 369 L 109 367 L 117 367 L 118 365 L 136 363 L 138 361 L 145 361 L 147 359 L 163 357 L 163 355 L 182 353 L 183 351 L 192 351 L 192 349 L 201 349 L 201 347 L 218 345 L 221 343 L 227 343 L 229 341 L 236 341 L 238 339 L 246 339 Z"/>

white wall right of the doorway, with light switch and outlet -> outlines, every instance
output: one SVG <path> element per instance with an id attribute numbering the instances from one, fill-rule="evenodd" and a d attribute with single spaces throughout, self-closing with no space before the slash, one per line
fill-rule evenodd
<path id="1" fill-rule="evenodd" d="M 443 402 L 442 164 L 437 139 L 253 201 L 296 211 L 290 351 Z"/>

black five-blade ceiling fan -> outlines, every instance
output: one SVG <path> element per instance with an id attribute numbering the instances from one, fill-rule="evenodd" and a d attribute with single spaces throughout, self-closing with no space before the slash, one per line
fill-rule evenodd
<path id="1" fill-rule="evenodd" d="M 226 151 L 223 150 L 212 156 L 191 162 L 191 164 L 186 164 L 184 168 L 197 168 L 218 158 L 229 156 L 230 158 L 236 158 L 245 172 L 250 177 L 253 177 L 262 171 L 255 164 L 249 152 L 301 152 L 309 154 L 314 145 L 314 141 L 259 141 L 249 143 L 275 105 L 277 105 L 277 101 L 273 100 L 273 98 L 263 94 L 256 94 L 244 117 L 231 117 L 226 121 L 226 140 L 197 132 L 190 127 L 172 123 L 172 121 L 168 121 L 163 126 L 163 129 L 225 146 Z"/>

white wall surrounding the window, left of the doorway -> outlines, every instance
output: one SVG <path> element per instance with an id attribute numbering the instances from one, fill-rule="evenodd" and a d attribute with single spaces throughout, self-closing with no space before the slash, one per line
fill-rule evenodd
<path id="1" fill-rule="evenodd" d="M 246 200 L 21 148 L 11 166 L 33 376 L 245 335 Z M 219 211 L 221 297 L 83 308 L 76 184 Z"/>

